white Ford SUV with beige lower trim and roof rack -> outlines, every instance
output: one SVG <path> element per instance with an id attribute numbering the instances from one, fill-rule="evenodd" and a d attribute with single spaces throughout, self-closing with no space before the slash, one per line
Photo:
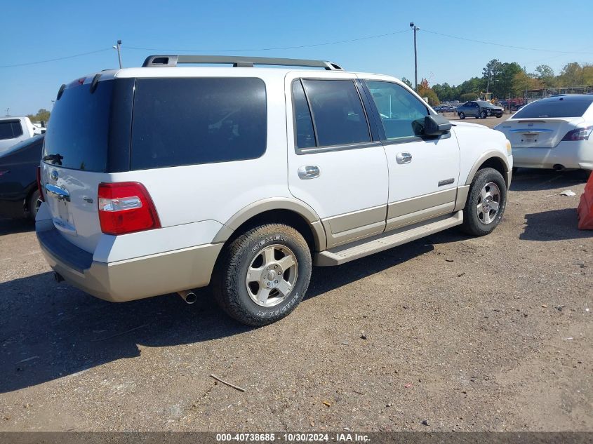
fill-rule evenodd
<path id="1" fill-rule="evenodd" d="M 158 55 L 60 88 L 36 232 L 56 278 L 91 295 L 193 302 L 211 284 L 230 316 L 265 325 L 312 265 L 459 224 L 490 233 L 511 171 L 502 133 L 452 125 L 390 76 Z"/>

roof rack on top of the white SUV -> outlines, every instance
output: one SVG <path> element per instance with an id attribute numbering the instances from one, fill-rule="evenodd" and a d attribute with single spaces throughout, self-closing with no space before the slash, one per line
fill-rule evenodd
<path id="1" fill-rule="evenodd" d="M 324 68 L 328 71 L 342 71 L 340 65 L 324 60 L 284 59 L 272 57 L 240 57 L 234 55 L 149 55 L 142 67 L 175 67 L 182 63 L 222 63 L 234 67 L 253 65 L 298 66 Z"/>

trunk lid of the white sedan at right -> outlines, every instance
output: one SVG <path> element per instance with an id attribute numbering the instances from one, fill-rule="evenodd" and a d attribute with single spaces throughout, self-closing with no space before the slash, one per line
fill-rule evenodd
<path id="1" fill-rule="evenodd" d="M 496 129 L 505 133 L 513 148 L 554 148 L 568 131 L 583 121 L 582 117 L 509 119 Z"/>

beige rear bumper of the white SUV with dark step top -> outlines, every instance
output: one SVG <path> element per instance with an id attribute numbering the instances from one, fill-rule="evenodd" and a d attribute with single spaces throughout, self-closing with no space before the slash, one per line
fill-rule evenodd
<path id="1" fill-rule="evenodd" d="M 36 234 L 48 264 L 67 283 L 112 302 L 204 287 L 222 249 L 222 243 L 196 245 L 107 263 L 69 243 L 51 220 L 38 220 Z"/>

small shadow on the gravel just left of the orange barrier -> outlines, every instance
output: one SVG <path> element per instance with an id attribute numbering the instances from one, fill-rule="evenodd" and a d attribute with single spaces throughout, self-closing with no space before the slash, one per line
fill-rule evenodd
<path id="1" fill-rule="evenodd" d="M 577 228 L 577 210 L 542 211 L 525 215 L 524 232 L 519 234 L 521 241 L 566 241 L 567 239 L 593 238 L 593 231 Z"/>

